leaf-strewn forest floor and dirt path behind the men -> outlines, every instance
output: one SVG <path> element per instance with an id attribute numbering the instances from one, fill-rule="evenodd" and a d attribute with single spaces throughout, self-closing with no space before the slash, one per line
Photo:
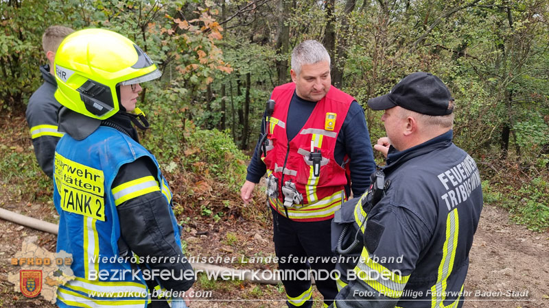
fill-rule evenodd
<path id="1" fill-rule="evenodd" d="M 56 217 L 51 203 L 16 203 L 6 194 L 0 194 L 0 206 L 39 219 Z M 25 298 L 7 278 L 8 272 L 18 271 L 17 266 L 10 264 L 10 258 L 21 250 L 24 238 L 36 235 L 38 246 L 54 252 L 55 235 L 1 219 L 0 229 L 0 307 L 54 307 L 41 296 Z M 257 262 L 258 257 L 274 255 L 268 221 L 231 218 L 214 223 L 199 218 L 191 220 L 184 233 L 189 257 L 229 257 L 229 262 L 213 261 L 230 268 L 276 268 L 272 262 Z M 528 231 L 513 224 L 504 209 L 485 205 L 471 249 L 465 283 L 465 290 L 471 295 L 464 307 L 549 307 L 548 255 L 547 233 Z M 207 297 L 196 298 L 192 307 L 285 307 L 281 285 L 211 281 L 200 275 L 194 288 Z M 316 298 L 319 295 L 314 293 Z M 322 307 L 321 302 L 316 301 L 314 307 Z"/>

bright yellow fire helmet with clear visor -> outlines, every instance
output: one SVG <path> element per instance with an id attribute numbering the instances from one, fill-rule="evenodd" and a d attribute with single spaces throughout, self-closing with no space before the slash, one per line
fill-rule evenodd
<path id="1" fill-rule="evenodd" d="M 117 86 L 162 75 L 134 42 L 105 29 L 84 29 L 67 36 L 56 52 L 55 71 L 57 101 L 100 120 L 120 109 Z"/>

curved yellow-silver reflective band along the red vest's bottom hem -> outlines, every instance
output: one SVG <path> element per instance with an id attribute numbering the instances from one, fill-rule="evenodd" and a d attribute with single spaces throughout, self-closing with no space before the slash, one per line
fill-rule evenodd
<path id="1" fill-rule="evenodd" d="M 288 210 L 288 218 L 294 220 L 305 220 L 334 215 L 334 213 L 341 207 L 342 196 L 344 198 L 343 190 L 335 192 L 331 196 L 327 196 L 326 198 L 314 203 L 314 205 L 307 205 L 307 207 L 301 207 L 300 209 L 293 209 L 292 207 L 284 209 L 283 203 L 278 198 L 269 198 L 269 202 L 282 216 L 286 217 L 285 211 Z"/>

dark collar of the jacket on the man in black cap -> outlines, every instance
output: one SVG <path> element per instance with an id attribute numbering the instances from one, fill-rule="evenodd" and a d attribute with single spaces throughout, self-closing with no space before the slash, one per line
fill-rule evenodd
<path id="1" fill-rule="evenodd" d="M 430 140 L 418 144 L 417 146 L 412 146 L 410 149 L 404 151 L 397 151 L 393 146 L 389 147 L 389 152 L 386 159 L 386 166 L 383 169 L 392 168 L 393 166 L 400 165 L 413 157 L 429 153 L 437 148 L 442 148 L 452 144 L 452 137 L 454 136 L 454 131 L 450 129 L 449 131 L 443 133 L 442 135 L 436 136 Z"/>

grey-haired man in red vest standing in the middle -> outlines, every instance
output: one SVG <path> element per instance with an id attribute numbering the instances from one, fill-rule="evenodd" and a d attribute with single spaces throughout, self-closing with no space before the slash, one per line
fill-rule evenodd
<path id="1" fill-rule="evenodd" d="M 250 202 L 267 172 L 274 249 L 281 270 L 334 270 L 331 220 L 352 190 L 360 196 L 375 170 L 364 110 L 351 95 L 331 86 L 330 57 L 322 44 L 306 40 L 292 52 L 292 81 L 274 88 L 241 197 Z M 349 179 L 350 176 L 350 179 Z M 292 258 L 290 258 L 290 256 Z M 297 257 L 296 261 L 292 261 Z M 283 279 L 288 307 L 312 307 L 310 279 Z M 316 279 L 330 305 L 333 279 Z"/>

